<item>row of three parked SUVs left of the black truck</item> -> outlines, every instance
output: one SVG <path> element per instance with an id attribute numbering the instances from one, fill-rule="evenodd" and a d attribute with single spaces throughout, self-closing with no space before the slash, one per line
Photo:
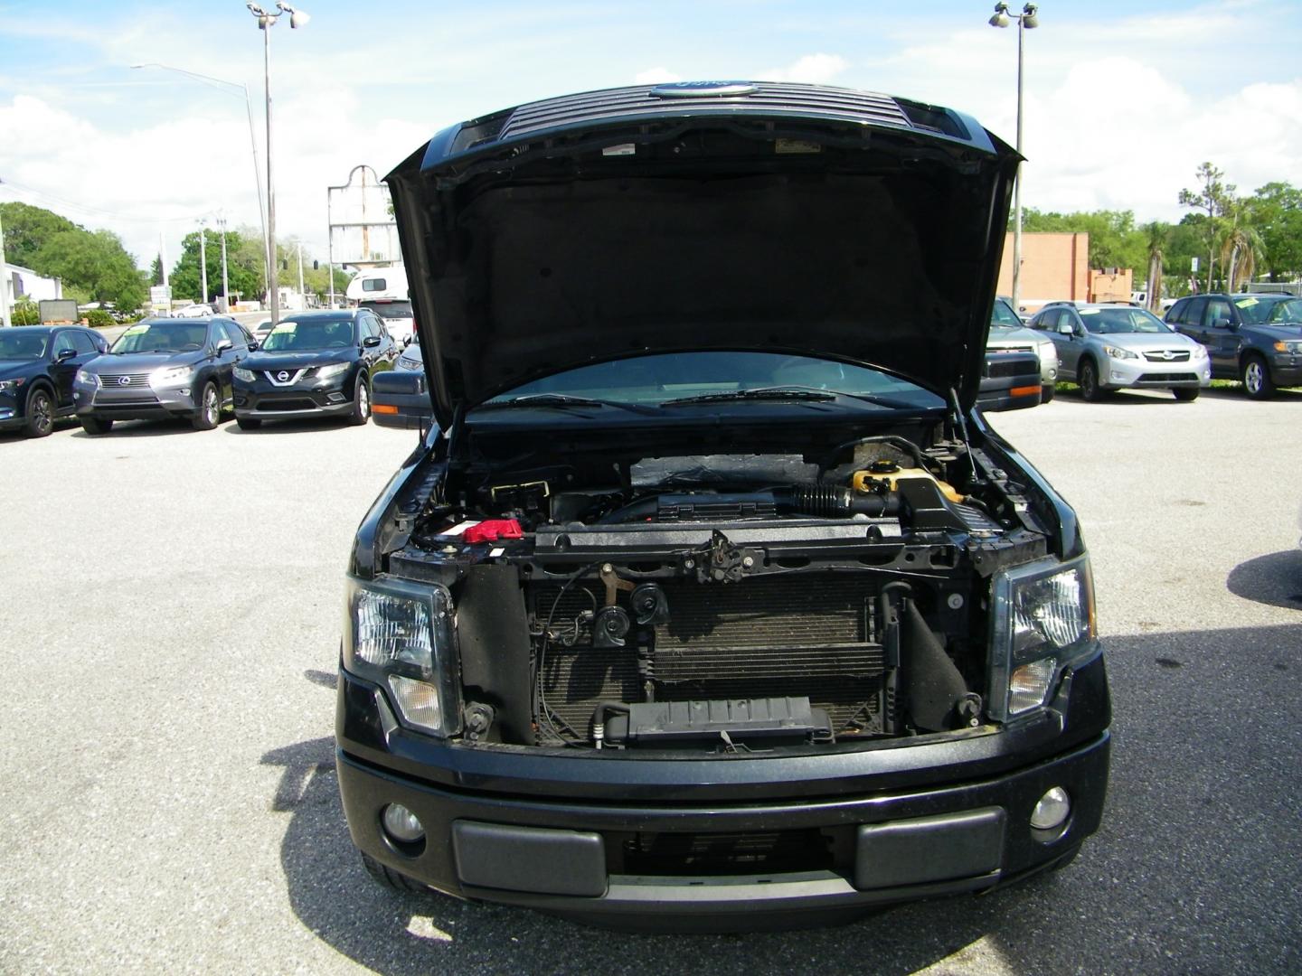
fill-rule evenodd
<path id="1" fill-rule="evenodd" d="M 366 308 L 296 312 L 259 342 L 234 319 L 145 319 L 108 346 L 81 327 L 0 332 L 0 431 L 43 437 L 76 414 L 90 435 L 117 420 L 185 418 L 198 431 L 233 414 L 264 420 L 371 415 L 371 380 L 398 345 Z"/>

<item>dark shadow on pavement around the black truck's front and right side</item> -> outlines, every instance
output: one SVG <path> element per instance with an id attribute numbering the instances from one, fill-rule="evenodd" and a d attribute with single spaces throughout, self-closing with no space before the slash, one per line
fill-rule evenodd
<path id="1" fill-rule="evenodd" d="M 293 911 L 381 973 L 1297 971 L 1302 856 L 1293 721 L 1302 623 L 1108 640 L 1116 705 L 1104 825 L 1074 864 L 986 895 L 838 928 L 611 933 L 379 888 L 348 835 L 329 737 L 273 750 Z M 1216 688 L 1233 685 L 1233 694 Z M 1269 708 L 1254 703 L 1269 701 Z M 1237 704 L 1236 704 L 1237 703 Z M 1219 731 L 1217 731 L 1219 730 Z M 1232 734 L 1226 734 L 1232 730 Z"/>

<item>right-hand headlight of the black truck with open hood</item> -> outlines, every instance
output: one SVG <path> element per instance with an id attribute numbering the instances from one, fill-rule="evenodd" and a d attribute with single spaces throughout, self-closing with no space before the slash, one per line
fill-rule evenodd
<path id="1" fill-rule="evenodd" d="M 995 576 L 992 596 L 990 712 L 1010 718 L 1044 704 L 1055 675 L 1092 652 L 1090 562 L 1016 566 Z"/>

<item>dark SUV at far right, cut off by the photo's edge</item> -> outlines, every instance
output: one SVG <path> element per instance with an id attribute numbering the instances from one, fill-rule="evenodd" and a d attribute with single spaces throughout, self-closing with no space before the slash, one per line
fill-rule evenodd
<path id="1" fill-rule="evenodd" d="M 1170 306 L 1167 324 L 1207 346 L 1212 379 L 1241 380 L 1253 400 L 1302 385 L 1302 298 L 1193 295 Z"/>

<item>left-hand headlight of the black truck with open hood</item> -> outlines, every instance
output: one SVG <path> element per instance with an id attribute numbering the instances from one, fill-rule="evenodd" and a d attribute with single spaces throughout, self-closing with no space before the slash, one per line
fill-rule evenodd
<path id="1" fill-rule="evenodd" d="M 461 729 L 452 596 L 441 586 L 349 579 L 344 666 L 384 687 L 405 725 Z"/>

